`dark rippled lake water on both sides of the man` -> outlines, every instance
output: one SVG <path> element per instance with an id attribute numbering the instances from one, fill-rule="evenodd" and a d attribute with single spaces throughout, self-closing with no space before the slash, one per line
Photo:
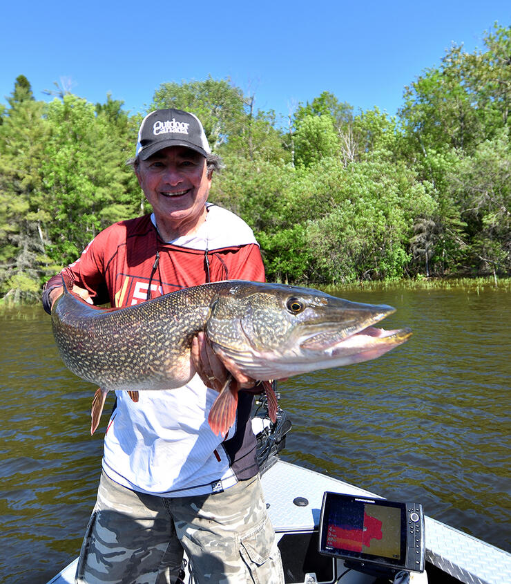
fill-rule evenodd
<path id="1" fill-rule="evenodd" d="M 293 422 L 282 458 L 422 502 L 427 515 L 511 551 L 509 292 L 336 295 L 393 305 L 383 326 L 414 336 L 375 361 L 280 384 Z M 0 582 L 46 583 L 79 552 L 106 418 L 90 437 L 95 387 L 61 363 L 41 308 L 0 319 Z"/>

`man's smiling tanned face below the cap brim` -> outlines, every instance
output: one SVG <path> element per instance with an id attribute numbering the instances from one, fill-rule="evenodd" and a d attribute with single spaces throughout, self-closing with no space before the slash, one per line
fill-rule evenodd
<path id="1" fill-rule="evenodd" d="M 135 172 L 158 229 L 172 238 L 195 232 L 204 218 L 211 187 L 206 158 L 195 150 L 170 146 L 140 160 Z"/>

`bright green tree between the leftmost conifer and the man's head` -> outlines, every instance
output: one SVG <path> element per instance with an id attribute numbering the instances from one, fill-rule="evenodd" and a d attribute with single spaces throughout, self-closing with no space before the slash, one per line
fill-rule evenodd
<path id="1" fill-rule="evenodd" d="M 108 115 L 96 116 L 93 104 L 64 95 L 48 105 L 47 119 L 50 136 L 42 170 L 53 216 L 50 255 L 65 265 L 100 229 L 137 214 L 139 189 L 126 191 L 132 180 L 125 167 L 126 142 Z"/>

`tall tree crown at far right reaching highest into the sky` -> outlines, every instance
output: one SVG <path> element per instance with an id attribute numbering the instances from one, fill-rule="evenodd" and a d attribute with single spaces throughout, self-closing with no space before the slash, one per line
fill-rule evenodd
<path id="1" fill-rule="evenodd" d="M 447 147 L 473 153 L 481 141 L 508 124 L 511 104 L 511 27 L 488 32 L 486 50 L 447 50 L 441 65 L 405 88 L 400 111 L 418 149 Z"/>

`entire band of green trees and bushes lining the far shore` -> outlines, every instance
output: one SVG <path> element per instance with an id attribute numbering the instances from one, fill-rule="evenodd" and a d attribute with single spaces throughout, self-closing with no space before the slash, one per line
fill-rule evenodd
<path id="1" fill-rule="evenodd" d="M 453 45 L 396 116 L 327 91 L 288 115 L 261 111 L 211 77 L 162 83 L 147 111 L 200 117 L 225 166 L 210 200 L 253 228 L 268 281 L 509 290 L 509 55 L 498 23 L 473 53 Z M 39 301 L 100 230 L 151 211 L 126 165 L 142 114 L 55 87 L 39 101 L 19 75 L 0 104 L 0 305 Z"/>

